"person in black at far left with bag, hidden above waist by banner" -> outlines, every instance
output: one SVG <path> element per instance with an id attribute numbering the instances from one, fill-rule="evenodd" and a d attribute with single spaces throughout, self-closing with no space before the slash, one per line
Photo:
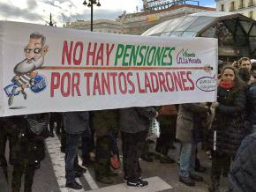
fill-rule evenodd
<path id="1" fill-rule="evenodd" d="M 24 192 L 32 192 L 34 173 L 45 157 L 43 140 L 49 137 L 49 114 L 13 116 L 19 127 L 18 141 L 12 147 L 12 192 L 19 192 L 21 178 L 25 174 Z"/>

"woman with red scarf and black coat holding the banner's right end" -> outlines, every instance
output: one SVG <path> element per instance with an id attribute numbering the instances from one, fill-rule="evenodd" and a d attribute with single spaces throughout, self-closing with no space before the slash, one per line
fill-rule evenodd
<path id="1" fill-rule="evenodd" d="M 221 82 L 217 91 L 215 118 L 210 129 L 212 146 L 212 173 L 209 191 L 219 191 L 221 175 L 227 176 L 230 160 L 235 157 L 241 141 L 250 133 L 245 127 L 245 83 L 231 65 L 222 68 Z"/>

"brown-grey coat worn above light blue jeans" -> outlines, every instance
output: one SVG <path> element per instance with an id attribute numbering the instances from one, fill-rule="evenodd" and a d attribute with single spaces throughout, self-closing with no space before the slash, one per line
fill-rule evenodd
<path id="1" fill-rule="evenodd" d="M 199 129 L 199 122 L 207 120 L 207 111 L 205 106 L 197 103 L 179 105 L 176 126 L 177 139 L 188 143 L 195 141 L 194 129 Z"/>

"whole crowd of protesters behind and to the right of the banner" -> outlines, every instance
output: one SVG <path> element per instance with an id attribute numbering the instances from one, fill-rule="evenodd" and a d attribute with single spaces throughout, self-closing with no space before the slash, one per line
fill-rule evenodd
<path id="1" fill-rule="evenodd" d="M 67 188 L 82 188 L 75 178 L 92 164 L 96 181 L 112 184 L 111 177 L 117 176 L 113 169 L 119 168 L 117 137 L 120 137 L 124 181 L 129 188 L 148 185 L 142 180 L 139 158 L 174 163 L 168 151 L 175 149 L 177 142 L 181 146 L 179 181 L 185 185 L 195 186 L 196 181 L 203 181 L 197 174 L 206 171 L 197 157 L 201 143 L 212 159 L 209 191 L 219 191 L 221 175 L 230 178 L 228 191 L 256 191 L 256 60 L 242 57 L 219 68 L 217 101 L 213 103 L 1 117 L 0 166 L 8 181 L 5 158 L 8 140 L 9 163 L 13 165 L 12 191 L 19 192 L 23 174 L 24 191 L 32 191 L 34 172 L 45 157 L 44 139 L 55 137 L 55 127 L 56 134 L 61 134 L 60 150 L 65 152 Z M 149 127 L 153 126 L 149 124 L 155 119 L 159 122 L 160 136 L 148 137 Z M 154 144 L 154 151 L 149 151 L 150 144 Z"/>

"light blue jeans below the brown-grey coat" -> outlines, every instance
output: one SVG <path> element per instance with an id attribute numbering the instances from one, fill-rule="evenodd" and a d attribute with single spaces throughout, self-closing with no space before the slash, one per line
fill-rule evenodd
<path id="1" fill-rule="evenodd" d="M 194 174 L 196 147 L 197 144 L 195 142 L 182 143 L 179 159 L 179 176 L 189 177 L 190 174 Z"/>

